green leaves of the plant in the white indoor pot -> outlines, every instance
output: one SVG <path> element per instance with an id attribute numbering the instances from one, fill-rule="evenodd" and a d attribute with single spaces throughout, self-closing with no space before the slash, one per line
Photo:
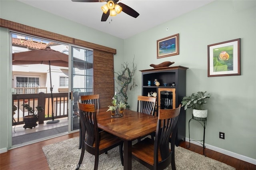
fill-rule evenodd
<path id="1" fill-rule="evenodd" d="M 203 104 L 207 103 L 205 99 L 210 98 L 212 96 L 211 93 L 208 93 L 208 95 L 204 95 L 206 93 L 202 91 L 198 91 L 196 94 L 192 93 L 191 96 L 185 96 L 183 97 L 181 103 L 182 107 L 184 106 L 184 109 L 197 109 L 197 110 L 204 110 Z"/>

